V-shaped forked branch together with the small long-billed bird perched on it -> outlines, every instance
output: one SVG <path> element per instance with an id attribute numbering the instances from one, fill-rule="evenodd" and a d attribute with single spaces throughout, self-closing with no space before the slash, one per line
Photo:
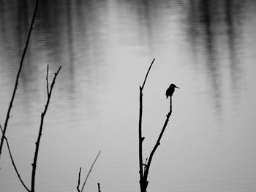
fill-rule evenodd
<path id="1" fill-rule="evenodd" d="M 152 66 L 153 62 L 154 62 L 154 60 L 152 61 L 151 65 L 149 66 L 148 72 L 151 69 L 151 66 Z M 172 96 L 173 96 L 174 88 L 178 88 L 178 87 L 176 87 L 176 85 L 172 84 L 167 89 L 166 96 L 170 96 L 170 111 L 166 115 L 165 123 L 164 123 L 164 125 L 162 127 L 162 130 L 161 130 L 160 134 L 159 134 L 157 142 L 154 145 L 153 150 L 151 151 L 151 153 L 149 155 L 149 158 L 146 158 L 146 162 L 145 162 L 145 164 L 143 164 L 143 140 L 145 139 L 145 137 L 142 137 L 143 88 L 144 88 L 144 85 L 146 83 L 146 78 L 148 77 L 148 72 L 146 74 L 146 77 L 145 77 L 145 80 L 143 82 L 143 85 L 140 87 L 139 166 L 140 166 L 140 191 L 141 192 L 146 192 L 146 188 L 148 187 L 148 172 L 149 172 L 149 168 L 151 166 L 151 161 L 152 161 L 152 158 L 154 156 L 154 153 L 157 150 L 157 147 L 160 145 L 160 141 L 162 139 L 162 135 L 165 132 L 165 128 L 167 126 L 167 123 L 169 121 L 170 115 L 172 113 Z M 143 167 L 144 167 L 144 169 L 143 169 Z"/>

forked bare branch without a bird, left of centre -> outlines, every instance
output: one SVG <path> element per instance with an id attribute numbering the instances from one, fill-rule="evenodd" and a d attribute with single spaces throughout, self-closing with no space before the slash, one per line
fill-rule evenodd
<path id="1" fill-rule="evenodd" d="M 59 67 L 58 71 L 54 74 L 53 82 L 50 85 L 50 90 L 48 90 L 48 99 L 47 99 L 46 104 L 45 104 L 45 110 L 41 114 L 41 122 L 40 122 L 40 127 L 39 127 L 39 133 L 38 133 L 37 142 L 36 142 L 36 149 L 35 149 L 35 152 L 34 152 L 34 161 L 33 161 L 33 164 L 32 164 L 31 192 L 34 192 L 34 183 L 35 183 L 36 170 L 37 170 L 37 157 L 38 157 L 38 152 L 39 152 L 39 143 L 40 143 L 40 139 L 41 139 L 41 136 L 42 136 L 42 126 L 43 126 L 43 123 L 44 123 L 45 114 L 48 110 L 48 105 L 50 103 L 50 96 L 51 96 L 51 93 L 53 91 L 53 86 L 54 86 L 56 77 L 59 74 L 59 70 L 61 70 L 61 66 Z M 48 67 L 47 67 L 47 77 L 48 77 Z M 48 83 L 48 78 L 46 78 L 46 82 Z"/>

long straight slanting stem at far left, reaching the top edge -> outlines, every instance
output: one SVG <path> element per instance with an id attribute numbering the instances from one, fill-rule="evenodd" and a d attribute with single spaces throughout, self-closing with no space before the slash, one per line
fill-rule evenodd
<path id="1" fill-rule="evenodd" d="M 9 105 L 9 108 L 8 108 L 8 111 L 7 111 L 7 116 L 6 116 L 5 123 L 4 123 L 4 129 L 3 129 L 3 132 L 2 132 L 1 143 L 0 143 L 0 158 L 1 158 L 1 150 L 2 150 L 2 147 L 4 145 L 5 133 L 7 131 L 8 120 L 10 118 L 10 112 L 12 110 L 12 103 L 14 101 L 15 93 L 16 93 L 16 90 L 18 88 L 18 80 L 19 80 L 19 77 L 20 77 L 20 72 L 21 72 L 21 69 L 22 69 L 22 66 L 23 66 L 23 61 L 24 61 L 25 55 L 26 55 L 26 50 L 27 50 L 27 48 L 29 46 L 29 39 L 30 39 L 30 36 L 31 36 L 31 31 L 33 29 L 34 20 L 36 18 L 38 1 L 39 0 L 36 1 L 36 6 L 34 8 L 34 15 L 33 15 L 33 18 L 31 20 L 31 25 L 30 25 L 30 28 L 29 28 L 29 34 L 28 34 L 28 37 L 26 39 L 26 45 L 24 47 L 23 54 L 22 54 L 22 57 L 21 57 L 21 60 L 20 60 L 20 67 L 18 69 L 18 74 L 17 74 L 16 81 L 15 81 L 15 87 L 14 87 L 14 90 L 12 92 L 12 99 L 10 101 L 10 105 Z"/>

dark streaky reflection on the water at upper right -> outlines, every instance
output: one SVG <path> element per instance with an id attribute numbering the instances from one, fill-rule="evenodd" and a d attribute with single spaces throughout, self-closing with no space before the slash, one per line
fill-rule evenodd
<path id="1" fill-rule="evenodd" d="M 243 1 L 190 1 L 187 26 L 192 50 L 203 48 L 200 54 L 206 55 L 206 69 L 216 107 L 221 110 L 222 69 L 228 63 L 230 88 L 237 94 L 240 88 L 241 20 Z M 224 54 L 223 54 L 224 53 Z M 227 58 L 228 57 L 228 58 Z"/>

